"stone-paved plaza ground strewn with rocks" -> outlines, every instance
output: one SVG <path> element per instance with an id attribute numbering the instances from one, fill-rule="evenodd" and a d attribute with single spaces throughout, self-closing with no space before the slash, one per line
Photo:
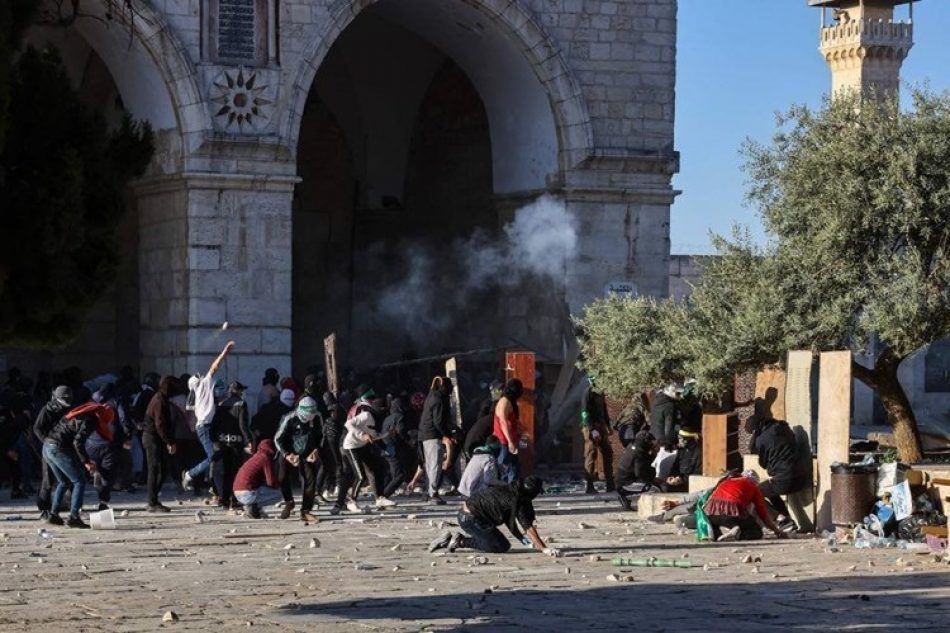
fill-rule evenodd
<path id="1" fill-rule="evenodd" d="M 159 516 L 138 496 L 116 495 L 117 514 L 130 510 L 117 530 L 51 527 L 50 547 L 38 543 L 31 507 L 3 502 L 0 518 L 22 518 L 0 521 L 0 631 L 923 633 L 946 631 L 950 618 L 948 567 L 931 555 L 813 538 L 696 545 L 672 526 L 621 515 L 608 495 L 541 498 L 540 530 L 560 559 L 520 546 L 430 555 L 455 506 L 413 498 L 384 514 L 320 511 L 319 524 L 304 525 L 179 504 L 170 488 L 165 497 L 172 512 Z M 616 555 L 696 567 L 617 570 Z M 747 555 L 761 562 L 742 562 Z M 178 622 L 162 622 L 169 610 Z"/>

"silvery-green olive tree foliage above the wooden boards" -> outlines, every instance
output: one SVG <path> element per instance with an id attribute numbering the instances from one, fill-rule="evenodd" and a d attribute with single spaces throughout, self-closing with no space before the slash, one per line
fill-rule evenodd
<path id="1" fill-rule="evenodd" d="M 867 353 L 876 335 L 901 359 L 950 335 L 950 96 L 795 108 L 746 155 L 767 245 L 716 237 L 685 304 L 589 306 L 582 364 L 609 392 L 689 376 L 718 393 L 790 349 Z"/>

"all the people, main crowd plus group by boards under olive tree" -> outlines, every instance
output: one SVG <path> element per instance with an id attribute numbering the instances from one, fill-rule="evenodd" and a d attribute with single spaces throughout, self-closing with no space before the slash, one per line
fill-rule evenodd
<path id="1" fill-rule="evenodd" d="M 441 535 L 433 551 L 506 551 L 510 544 L 498 530 L 505 525 L 516 539 L 557 554 L 534 528 L 532 501 L 542 482 L 520 477 L 519 380 L 484 385 L 477 408 L 461 415 L 445 376 L 427 391 L 390 385 L 377 392 L 378 384 L 352 380 L 334 393 L 317 368 L 302 386 L 268 369 L 252 413 L 247 387 L 218 377 L 233 347 L 228 343 L 204 373 L 147 373 L 141 383 L 130 368 L 86 382 L 72 368 L 56 380 L 40 375 L 35 385 L 10 370 L 0 390 L 0 476 L 9 479 L 11 497 L 35 493 L 41 520 L 84 528 L 80 511 L 90 481 L 100 511 L 113 490 L 144 485 L 147 510 L 169 512 L 161 493 L 171 481 L 179 493 L 207 490 L 208 503 L 250 519 L 266 517 L 269 508 L 289 519 L 299 499 L 306 523 L 319 521 L 320 504 L 333 515 L 371 511 L 361 496 L 385 510 L 400 495 L 421 494 L 433 505 L 454 495 L 462 498 L 461 531 Z M 685 492 L 690 475 L 702 472 L 703 409 L 695 385 L 643 394 L 612 422 L 595 377 L 588 380 L 579 420 L 586 492 L 597 492 L 598 464 L 606 491 L 628 510 L 645 492 Z M 750 431 L 767 481 L 725 473 L 652 520 L 696 529 L 704 539 L 760 538 L 763 527 L 782 536 L 812 529 L 804 510 L 810 449 L 767 409 L 757 410 Z M 616 464 L 615 433 L 622 447 Z"/>

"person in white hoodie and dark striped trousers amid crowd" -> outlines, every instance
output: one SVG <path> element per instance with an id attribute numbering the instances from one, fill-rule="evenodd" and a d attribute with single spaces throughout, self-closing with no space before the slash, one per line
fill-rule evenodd
<path id="1" fill-rule="evenodd" d="M 385 414 L 386 400 L 375 398 L 366 403 L 360 403 L 355 415 L 346 421 L 346 437 L 343 438 L 343 455 L 346 463 L 343 481 L 340 482 L 340 491 L 336 505 L 330 510 L 331 514 L 339 514 L 343 509 L 344 501 L 350 512 L 362 512 L 357 498 L 360 488 L 366 482 L 367 471 L 373 477 L 373 488 L 376 492 L 376 507 L 390 508 L 396 505 L 383 495 L 385 486 L 386 463 L 375 442 L 380 438 L 376 431 L 378 418 Z M 347 499 L 349 494 L 349 499 Z"/>

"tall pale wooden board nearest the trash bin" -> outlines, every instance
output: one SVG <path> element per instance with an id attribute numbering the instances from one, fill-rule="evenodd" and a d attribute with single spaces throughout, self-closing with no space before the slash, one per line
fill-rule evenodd
<path id="1" fill-rule="evenodd" d="M 818 386 L 817 529 L 831 523 L 831 464 L 848 462 L 851 438 L 851 352 L 822 352 Z"/>

